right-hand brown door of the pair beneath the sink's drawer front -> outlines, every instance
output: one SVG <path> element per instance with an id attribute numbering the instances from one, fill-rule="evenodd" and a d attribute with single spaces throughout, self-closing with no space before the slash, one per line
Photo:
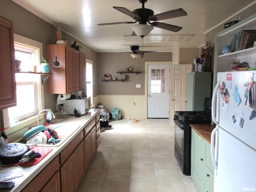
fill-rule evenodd
<path id="1" fill-rule="evenodd" d="M 74 164 L 74 181 L 76 181 L 75 188 L 78 188 L 85 173 L 84 141 L 82 141 L 74 151 L 74 157 L 76 160 L 76 163 Z"/>

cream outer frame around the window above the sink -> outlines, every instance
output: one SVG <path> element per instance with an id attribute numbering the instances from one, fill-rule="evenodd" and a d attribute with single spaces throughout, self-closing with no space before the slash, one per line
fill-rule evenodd
<path id="1" fill-rule="evenodd" d="M 36 48 L 38 51 L 36 52 L 36 57 L 38 58 L 38 65 L 40 65 L 40 56 L 43 55 L 43 44 L 41 42 L 37 42 L 35 40 L 14 34 L 14 43 L 20 44 L 24 46 L 30 46 L 32 48 Z M 29 75 L 29 74 L 28 74 Z M 42 80 L 40 78 L 39 88 L 38 88 L 38 112 L 42 109 L 44 109 L 44 85 L 42 84 Z M 10 127 L 9 124 L 9 117 L 8 117 L 8 109 L 3 110 L 3 121 L 4 126 L 6 127 L 6 134 L 12 134 L 26 126 L 29 126 L 31 124 L 34 124 L 37 122 L 37 115 L 34 115 L 30 118 L 27 118 L 26 120 L 22 120 L 18 122 L 17 124 Z M 40 119 L 44 118 L 44 116 L 40 116 Z"/>

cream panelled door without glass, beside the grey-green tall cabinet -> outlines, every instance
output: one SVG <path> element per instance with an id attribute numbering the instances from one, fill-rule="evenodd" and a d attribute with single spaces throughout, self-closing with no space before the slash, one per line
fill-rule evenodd
<path id="1" fill-rule="evenodd" d="M 187 74 L 191 72 L 191 68 L 191 64 L 171 65 L 171 126 L 174 126 L 174 112 L 186 110 Z"/>

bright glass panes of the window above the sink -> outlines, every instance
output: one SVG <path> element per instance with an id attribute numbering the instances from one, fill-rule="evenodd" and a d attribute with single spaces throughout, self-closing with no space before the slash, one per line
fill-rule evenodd
<path id="1" fill-rule="evenodd" d="M 37 114 L 40 97 L 40 75 L 29 74 L 33 65 L 39 64 L 38 50 L 26 45 L 14 44 L 15 58 L 20 60 L 21 73 L 16 73 L 17 106 L 8 108 L 10 126 Z"/>

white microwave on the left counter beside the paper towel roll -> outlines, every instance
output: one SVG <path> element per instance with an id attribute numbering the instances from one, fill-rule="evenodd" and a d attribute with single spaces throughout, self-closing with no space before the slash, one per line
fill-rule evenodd
<path id="1" fill-rule="evenodd" d="M 66 99 L 64 106 L 68 106 L 69 114 L 74 115 L 74 110 L 76 108 L 77 112 L 80 115 L 86 114 L 91 108 L 91 98 L 82 98 L 82 99 Z"/>

